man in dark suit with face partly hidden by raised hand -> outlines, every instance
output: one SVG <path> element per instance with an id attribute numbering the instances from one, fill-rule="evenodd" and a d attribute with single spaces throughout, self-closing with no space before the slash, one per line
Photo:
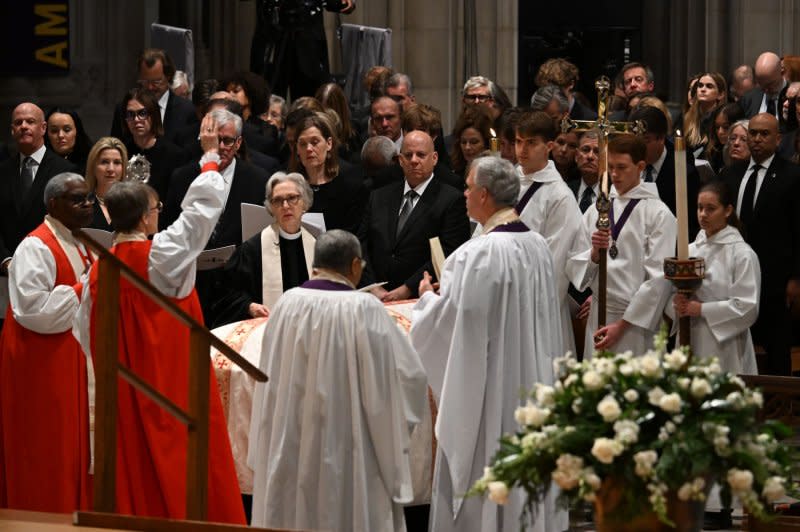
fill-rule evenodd
<path id="1" fill-rule="evenodd" d="M 206 249 L 215 249 L 224 246 L 242 243 L 242 203 L 263 205 L 266 197 L 266 173 L 242 159 L 237 158 L 237 153 L 242 144 L 242 119 L 225 109 L 211 112 L 217 123 L 219 136 L 219 172 L 229 187 L 228 197 L 222 215 L 217 222 L 211 237 L 206 244 Z M 169 186 L 169 197 L 164 209 L 164 227 L 178 219 L 183 201 L 189 185 L 199 174 L 197 161 L 178 168 L 172 174 Z M 197 294 L 200 297 L 200 306 L 203 307 L 203 317 L 207 324 L 213 324 L 216 319 L 214 304 L 224 293 L 221 266 L 214 270 L 197 272 Z"/>

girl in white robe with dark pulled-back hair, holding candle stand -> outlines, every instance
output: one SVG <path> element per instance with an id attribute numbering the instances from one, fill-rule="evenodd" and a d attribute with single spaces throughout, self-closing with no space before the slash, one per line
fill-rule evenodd
<path id="1" fill-rule="evenodd" d="M 735 219 L 735 198 L 723 183 L 705 185 L 697 199 L 701 230 L 689 246 L 690 257 L 705 259 L 703 284 L 691 300 L 676 294 L 671 315 L 691 317 L 692 352 L 716 356 L 723 371 L 756 375 L 750 326 L 758 317 L 761 268 L 755 251 L 728 224 Z M 676 322 L 677 326 L 677 322 Z"/>

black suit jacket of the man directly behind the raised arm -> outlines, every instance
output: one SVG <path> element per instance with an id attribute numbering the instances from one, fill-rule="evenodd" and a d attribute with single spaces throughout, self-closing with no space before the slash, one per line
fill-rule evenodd
<path id="1" fill-rule="evenodd" d="M 189 163 L 175 170 L 169 187 L 162 227 L 169 226 L 178 219 L 181 213 L 181 202 L 192 181 L 200 174 L 197 161 Z M 238 246 L 242 243 L 242 203 L 263 205 L 267 186 L 267 174 L 260 168 L 243 161 L 236 160 L 236 169 L 233 172 L 231 191 L 225 210 L 211 239 L 206 244 L 206 249 L 214 249 L 231 244 Z"/>

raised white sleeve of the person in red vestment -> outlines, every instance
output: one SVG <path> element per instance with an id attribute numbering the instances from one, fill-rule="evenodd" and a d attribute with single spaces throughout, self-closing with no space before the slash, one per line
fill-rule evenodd
<path id="1" fill-rule="evenodd" d="M 186 192 L 178 219 L 153 237 L 148 274 L 153 286 L 165 295 L 186 297 L 192 291 L 197 256 L 222 214 L 224 198 L 222 175 L 216 171 L 203 172 Z"/>

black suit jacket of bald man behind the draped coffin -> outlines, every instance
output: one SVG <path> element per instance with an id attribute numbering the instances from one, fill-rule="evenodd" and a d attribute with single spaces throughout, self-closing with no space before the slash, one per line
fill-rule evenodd
<path id="1" fill-rule="evenodd" d="M 396 234 L 404 186 L 392 183 L 370 195 L 359 231 L 367 257 L 362 283 L 388 281 L 388 290 L 405 284 L 416 296 L 422 273 L 434 275 L 428 240 L 438 236 L 450 254 L 469 239 L 469 218 L 463 193 L 432 179 Z"/>

